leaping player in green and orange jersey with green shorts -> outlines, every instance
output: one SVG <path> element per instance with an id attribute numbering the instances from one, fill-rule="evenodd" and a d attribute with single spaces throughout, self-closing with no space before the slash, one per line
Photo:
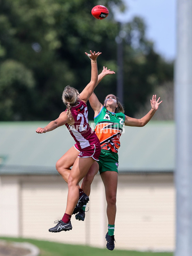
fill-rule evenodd
<path id="1" fill-rule="evenodd" d="M 110 69 L 109 69 L 110 70 Z M 108 74 L 107 68 L 98 77 L 98 83 Z M 108 217 L 108 232 L 106 234 L 107 248 L 113 250 L 115 248 L 115 217 L 116 217 L 116 192 L 117 192 L 117 176 L 118 176 L 118 149 L 120 147 L 119 138 L 122 134 L 123 124 L 127 126 L 143 127 L 146 125 L 156 110 L 161 104 L 160 97 L 156 100 L 156 95 L 153 95 L 151 101 L 150 111 L 140 119 L 132 118 L 124 115 L 124 108 L 113 94 L 108 94 L 104 103 L 100 103 L 97 96 L 93 92 L 89 98 L 90 105 L 94 110 L 95 133 L 97 134 L 100 145 L 101 154 L 99 162 L 94 162 L 90 167 L 87 175 L 84 177 L 81 189 L 89 196 L 91 190 L 91 183 L 98 170 L 101 179 L 105 186 L 105 195 L 107 201 L 107 217 Z M 77 220 L 84 220 L 85 207 L 76 214 Z"/>

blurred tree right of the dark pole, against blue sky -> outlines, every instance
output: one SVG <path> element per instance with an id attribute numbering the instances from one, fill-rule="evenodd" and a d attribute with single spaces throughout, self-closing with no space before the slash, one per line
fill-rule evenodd
<path id="1" fill-rule="evenodd" d="M 122 26 L 124 37 L 124 105 L 130 116 L 144 106 L 157 86 L 173 80 L 173 62 L 166 62 L 145 37 L 144 21 L 135 17 Z M 158 97 L 161 95 L 157 95 Z M 148 110 L 150 104 L 148 105 Z M 147 112 L 146 112 L 147 113 Z"/>

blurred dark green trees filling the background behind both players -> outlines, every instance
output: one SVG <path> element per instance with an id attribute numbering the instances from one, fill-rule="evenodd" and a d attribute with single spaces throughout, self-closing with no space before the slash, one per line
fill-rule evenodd
<path id="1" fill-rule="evenodd" d="M 55 119 L 65 109 L 64 87 L 70 84 L 81 92 L 90 81 L 91 65 L 84 52 L 102 52 L 99 72 L 103 66 L 117 71 L 115 38 L 119 31 L 112 10 L 114 6 L 123 10 L 124 4 L 103 0 L 110 14 L 96 20 L 91 9 L 97 4 L 101 2 L 0 1 L 1 121 Z M 135 18 L 122 29 L 126 33 L 124 105 L 127 115 L 133 116 L 154 84 L 172 80 L 172 63 L 154 52 L 141 19 Z M 107 76 L 95 92 L 101 101 L 108 93 L 116 94 L 116 75 Z"/>

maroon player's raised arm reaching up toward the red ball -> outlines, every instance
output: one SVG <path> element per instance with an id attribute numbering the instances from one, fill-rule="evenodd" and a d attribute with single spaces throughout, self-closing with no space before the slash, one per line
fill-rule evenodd
<path id="1" fill-rule="evenodd" d="M 91 81 L 84 90 L 80 93 L 79 99 L 87 102 L 89 97 L 92 95 L 93 90 L 95 89 L 98 81 L 98 70 L 97 70 L 97 57 L 101 54 L 101 52 L 93 52 L 90 51 L 90 59 L 91 59 Z M 85 52 L 87 55 L 88 53 Z"/>

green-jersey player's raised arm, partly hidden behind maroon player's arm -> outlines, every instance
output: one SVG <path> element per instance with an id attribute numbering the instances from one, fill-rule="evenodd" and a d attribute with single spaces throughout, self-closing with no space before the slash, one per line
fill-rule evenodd
<path id="1" fill-rule="evenodd" d="M 99 74 L 98 76 L 98 82 L 97 82 L 97 85 L 100 83 L 100 81 L 107 75 L 110 75 L 110 74 L 115 74 L 114 71 L 110 70 L 110 69 L 107 69 L 107 67 L 105 68 L 103 66 L 103 70 L 102 72 Z M 100 103 L 100 101 L 98 100 L 97 96 L 95 95 L 95 93 L 93 92 L 92 95 L 90 96 L 89 98 L 89 103 L 92 107 L 92 109 L 94 110 L 95 112 L 95 116 L 97 116 L 101 110 L 101 108 L 103 107 L 103 104 Z"/>

